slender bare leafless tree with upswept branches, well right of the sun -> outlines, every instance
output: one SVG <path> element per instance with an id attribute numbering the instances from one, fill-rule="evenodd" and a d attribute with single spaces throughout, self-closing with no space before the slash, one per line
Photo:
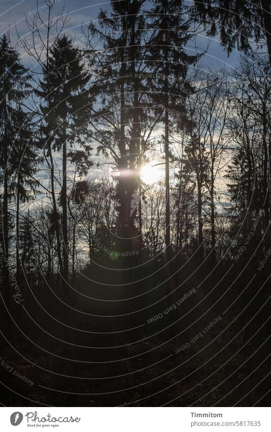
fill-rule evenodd
<path id="1" fill-rule="evenodd" d="M 229 136 L 227 134 L 229 117 L 229 85 L 224 70 L 204 73 L 196 72 L 193 81 L 197 82 L 196 92 L 189 99 L 188 111 L 194 130 L 201 141 L 207 163 L 207 179 L 205 186 L 210 203 L 210 232 L 212 245 L 212 262 L 216 264 L 216 186 L 219 173 L 225 166 Z"/>

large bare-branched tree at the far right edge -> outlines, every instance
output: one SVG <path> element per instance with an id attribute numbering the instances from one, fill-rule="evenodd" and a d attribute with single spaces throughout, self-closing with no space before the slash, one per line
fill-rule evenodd
<path id="1" fill-rule="evenodd" d="M 238 209 L 237 217 L 242 218 L 244 235 L 250 231 L 259 211 L 264 210 L 260 224 L 267 246 L 270 244 L 271 80 L 268 61 L 261 56 L 254 58 L 253 63 L 242 60 L 233 76 L 233 106 L 228 123 L 236 148 L 227 178 L 231 179 L 228 186 Z"/>

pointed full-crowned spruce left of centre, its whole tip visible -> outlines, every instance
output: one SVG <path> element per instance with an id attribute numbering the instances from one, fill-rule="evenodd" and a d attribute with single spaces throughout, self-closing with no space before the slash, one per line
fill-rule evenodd
<path id="1" fill-rule="evenodd" d="M 38 94 L 47 98 L 42 107 L 44 116 L 54 133 L 52 148 L 62 149 L 62 187 L 60 204 L 62 206 L 63 235 L 63 278 L 69 280 L 69 245 L 67 213 L 67 160 L 75 165 L 79 175 L 86 174 L 92 165 L 89 160 L 92 147 L 86 143 L 88 120 L 91 113 L 92 98 L 86 84 L 89 74 L 84 69 L 80 50 L 63 35 L 49 51 L 48 65 L 43 70 L 44 79 L 40 81 Z"/>

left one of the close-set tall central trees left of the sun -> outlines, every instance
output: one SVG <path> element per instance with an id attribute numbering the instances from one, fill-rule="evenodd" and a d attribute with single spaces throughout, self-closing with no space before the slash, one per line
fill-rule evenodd
<path id="1" fill-rule="evenodd" d="M 92 37 L 98 36 L 103 50 L 96 55 L 94 71 L 97 80 L 93 90 L 96 94 L 97 107 L 91 119 L 93 138 L 97 142 L 98 154 L 112 157 L 118 172 L 128 169 L 127 124 L 131 114 L 125 101 L 127 85 L 127 29 L 125 14 L 119 16 L 106 12 L 99 14 L 100 29 L 91 25 Z M 118 226 L 120 237 L 125 236 L 127 226 L 127 189 L 125 179 L 117 180 Z"/>

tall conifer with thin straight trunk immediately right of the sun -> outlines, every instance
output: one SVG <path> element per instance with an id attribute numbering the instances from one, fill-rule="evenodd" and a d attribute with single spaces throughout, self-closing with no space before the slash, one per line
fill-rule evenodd
<path id="1" fill-rule="evenodd" d="M 186 81 L 188 68 L 195 64 L 198 55 L 189 55 L 185 45 L 193 37 L 189 33 L 191 20 L 187 18 L 184 3 L 179 0 L 155 0 L 149 13 L 149 27 L 154 30 L 148 51 L 148 70 L 158 79 L 152 85 L 155 104 L 163 107 L 165 146 L 165 190 L 166 190 L 166 255 L 170 260 L 170 193 L 169 193 L 169 136 L 170 117 L 173 112 L 182 113 L 180 125 L 185 124 L 185 98 L 192 92 Z M 156 59 L 153 61 L 153 59 Z M 157 91 L 159 89 L 159 91 Z M 174 114 L 173 114 L 174 117 Z"/>

